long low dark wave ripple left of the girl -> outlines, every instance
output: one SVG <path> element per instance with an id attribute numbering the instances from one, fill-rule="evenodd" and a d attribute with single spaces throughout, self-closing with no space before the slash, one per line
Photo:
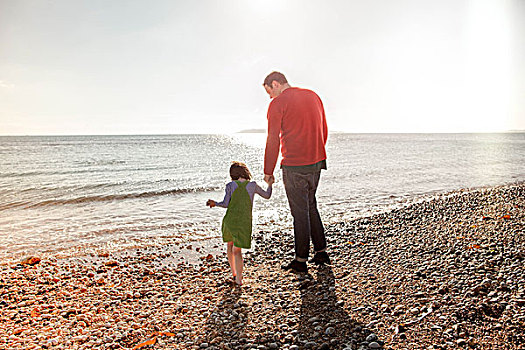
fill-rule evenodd
<path id="1" fill-rule="evenodd" d="M 0 204 L 0 211 L 13 209 L 13 208 L 41 208 L 41 207 L 54 207 L 71 204 L 86 204 L 96 202 L 114 202 L 129 199 L 140 199 L 140 198 L 154 198 L 169 195 L 197 193 L 197 192 L 211 192 L 218 191 L 219 187 L 196 187 L 196 188 L 179 188 L 173 190 L 163 191 L 146 191 L 137 193 L 125 193 L 125 194 L 109 194 L 109 195 L 94 195 L 94 196 L 81 196 L 76 198 L 67 199 L 49 199 L 40 202 L 29 202 L 29 201 L 16 201 L 10 203 Z"/>

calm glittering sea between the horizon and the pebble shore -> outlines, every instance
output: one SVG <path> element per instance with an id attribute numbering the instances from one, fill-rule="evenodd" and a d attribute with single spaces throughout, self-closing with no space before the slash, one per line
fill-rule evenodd
<path id="1" fill-rule="evenodd" d="M 264 133 L 0 137 L 0 263 L 30 256 L 220 242 L 232 161 L 263 181 Z M 332 133 L 318 188 L 325 223 L 441 193 L 525 180 L 525 133 Z M 290 233 L 276 169 L 256 196 L 255 230 Z"/>

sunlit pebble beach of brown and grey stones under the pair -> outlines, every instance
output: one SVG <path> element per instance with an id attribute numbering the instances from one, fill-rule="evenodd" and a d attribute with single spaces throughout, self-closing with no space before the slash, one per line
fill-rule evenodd
<path id="1" fill-rule="evenodd" d="M 240 288 L 219 239 L 2 265 L 0 349 L 525 349 L 524 183 L 328 224 L 307 274 L 269 227 Z"/>

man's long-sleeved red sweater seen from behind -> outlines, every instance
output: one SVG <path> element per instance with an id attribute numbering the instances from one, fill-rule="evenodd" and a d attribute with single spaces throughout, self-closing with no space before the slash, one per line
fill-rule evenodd
<path id="1" fill-rule="evenodd" d="M 311 90 L 291 87 L 268 107 L 268 139 L 264 173 L 272 175 L 279 156 L 282 165 L 311 165 L 326 159 L 328 128 L 323 103 Z"/>

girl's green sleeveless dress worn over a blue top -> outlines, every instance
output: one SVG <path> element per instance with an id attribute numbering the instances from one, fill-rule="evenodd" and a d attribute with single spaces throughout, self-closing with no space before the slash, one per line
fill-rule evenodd
<path id="1" fill-rule="evenodd" d="M 232 193 L 226 215 L 222 219 L 223 242 L 233 241 L 237 248 L 252 246 L 252 201 L 246 185 L 249 181 L 235 181 L 237 188 Z"/>

